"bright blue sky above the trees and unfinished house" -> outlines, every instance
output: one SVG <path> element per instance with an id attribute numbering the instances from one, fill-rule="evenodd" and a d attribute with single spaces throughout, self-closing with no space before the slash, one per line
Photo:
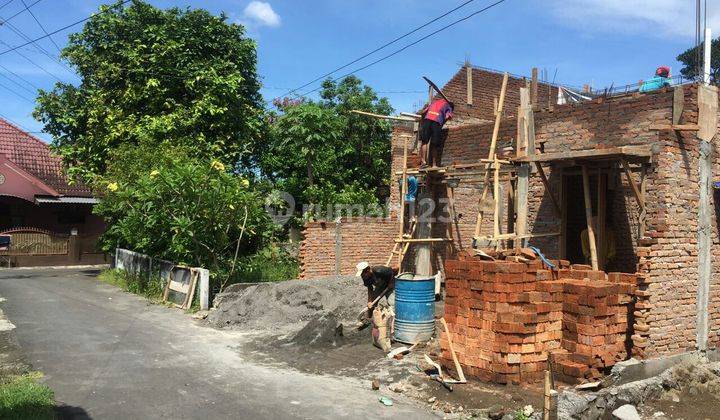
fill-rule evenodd
<path id="1" fill-rule="evenodd" d="M 24 0 L 31 5 L 37 0 Z M 259 73 L 266 100 L 283 95 L 328 71 L 369 52 L 410 29 L 441 15 L 465 0 L 151 0 L 158 7 L 204 7 L 226 12 L 243 23 L 258 43 Z M 9 2 L 9 3 L 8 3 Z M 361 67 L 426 33 L 464 17 L 491 0 L 475 0 L 442 21 L 399 41 L 338 75 Z M 30 7 L 52 32 L 97 10 L 103 1 L 41 0 Z M 358 76 L 398 111 L 411 111 L 426 96 L 426 75 L 444 84 L 469 59 L 473 64 L 512 73 L 529 74 L 533 66 L 546 69 L 557 82 L 596 88 L 636 83 L 652 76 L 661 64 L 673 73 L 675 57 L 694 42 L 694 2 L 688 0 L 506 0 L 447 31 L 435 35 Z M 23 0 L 0 0 L 0 18 L 24 9 Z M 720 35 L 720 6 L 708 11 L 708 23 Z M 27 37 L 43 35 L 24 11 L 9 22 Z M 23 43 L 9 27 L 0 27 L 0 51 Z M 79 30 L 80 26 L 74 28 Z M 53 40 L 62 48 L 68 30 Z M 33 46 L 0 55 L 0 115 L 37 133 L 32 118 L 36 88 L 51 88 L 58 80 L 77 82 L 68 68 L 56 62 L 56 46 L 39 41 L 48 54 Z M 52 57 L 48 57 L 48 55 Z M 304 91 L 317 87 L 317 84 Z"/>

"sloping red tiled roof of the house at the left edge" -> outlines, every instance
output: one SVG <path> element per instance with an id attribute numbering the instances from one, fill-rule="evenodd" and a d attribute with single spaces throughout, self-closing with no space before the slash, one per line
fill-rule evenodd
<path id="1" fill-rule="evenodd" d="M 68 184 L 62 172 L 60 158 L 51 154 L 42 140 L 0 118 L 0 154 L 26 170 L 60 194 L 74 197 L 92 197 L 90 189 L 76 183 Z"/>

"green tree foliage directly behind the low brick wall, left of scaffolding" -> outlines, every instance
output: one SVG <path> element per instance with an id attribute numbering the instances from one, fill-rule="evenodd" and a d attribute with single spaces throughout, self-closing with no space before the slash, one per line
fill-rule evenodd
<path id="1" fill-rule="evenodd" d="M 326 81 L 318 102 L 278 102 L 263 173 L 298 204 L 373 204 L 387 195 L 390 135 L 387 122 L 351 113 L 389 114 L 392 107 L 360 79 Z"/>

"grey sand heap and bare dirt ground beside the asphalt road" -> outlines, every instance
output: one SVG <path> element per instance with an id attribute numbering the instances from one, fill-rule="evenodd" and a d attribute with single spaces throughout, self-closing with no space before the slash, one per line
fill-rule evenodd
<path id="1" fill-rule="evenodd" d="M 251 331 L 237 351 L 253 362 L 359 378 L 367 381 L 368 388 L 376 380 L 384 395 L 403 394 L 440 414 L 500 418 L 526 405 L 541 407 L 542 393 L 536 387 L 471 381 L 452 385 L 449 391 L 422 370 L 428 367 L 425 354 L 437 360 L 437 342 L 417 346 L 401 360 L 388 359 L 372 345 L 370 328 L 356 328 L 355 320 L 366 301 L 366 289 L 356 278 L 305 282 L 230 291 L 218 298 L 218 309 L 208 320 L 217 328 Z M 441 311 L 440 303 L 436 313 Z"/>

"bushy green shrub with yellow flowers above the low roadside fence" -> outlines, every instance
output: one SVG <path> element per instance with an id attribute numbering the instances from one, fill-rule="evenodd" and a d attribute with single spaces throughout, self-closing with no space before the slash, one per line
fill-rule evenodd
<path id="1" fill-rule="evenodd" d="M 275 229 L 248 179 L 174 146 L 125 147 L 100 185 L 95 212 L 108 222 L 106 251 L 119 246 L 206 267 L 221 281 Z"/>

